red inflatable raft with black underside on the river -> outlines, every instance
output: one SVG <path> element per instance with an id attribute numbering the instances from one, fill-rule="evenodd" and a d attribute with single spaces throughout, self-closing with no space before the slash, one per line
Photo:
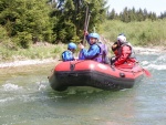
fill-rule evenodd
<path id="1" fill-rule="evenodd" d="M 68 86 L 93 86 L 102 90 L 131 88 L 143 77 L 143 69 L 136 64 L 132 69 L 114 67 L 92 60 L 59 63 L 51 76 L 50 85 L 55 91 Z"/>

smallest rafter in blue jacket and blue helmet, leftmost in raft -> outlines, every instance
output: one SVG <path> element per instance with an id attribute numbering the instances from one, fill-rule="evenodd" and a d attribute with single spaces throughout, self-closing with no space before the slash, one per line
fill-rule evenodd
<path id="1" fill-rule="evenodd" d="M 62 53 L 62 61 L 74 61 L 74 52 L 76 50 L 76 44 L 71 42 L 68 44 L 68 50 Z"/>

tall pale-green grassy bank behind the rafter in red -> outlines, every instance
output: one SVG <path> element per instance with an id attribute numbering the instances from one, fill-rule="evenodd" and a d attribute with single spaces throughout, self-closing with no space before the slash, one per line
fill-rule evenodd
<path id="1" fill-rule="evenodd" d="M 105 21 L 100 25 L 101 33 L 110 41 L 115 41 L 117 34 L 125 33 L 134 45 L 166 45 L 166 20 L 124 23 L 122 21 Z"/>

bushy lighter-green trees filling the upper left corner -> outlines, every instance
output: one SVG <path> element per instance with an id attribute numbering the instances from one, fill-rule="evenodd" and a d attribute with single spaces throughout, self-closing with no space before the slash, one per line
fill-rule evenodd
<path id="1" fill-rule="evenodd" d="M 22 48 L 28 48 L 34 38 L 51 41 L 50 10 L 46 0 L 1 0 L 0 24 Z"/>

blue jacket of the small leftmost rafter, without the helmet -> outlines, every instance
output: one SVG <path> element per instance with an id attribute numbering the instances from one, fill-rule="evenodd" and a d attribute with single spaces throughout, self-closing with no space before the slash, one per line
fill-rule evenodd
<path id="1" fill-rule="evenodd" d="M 62 60 L 65 62 L 65 61 L 73 61 L 74 60 L 74 55 L 71 51 L 64 51 L 62 53 Z"/>

